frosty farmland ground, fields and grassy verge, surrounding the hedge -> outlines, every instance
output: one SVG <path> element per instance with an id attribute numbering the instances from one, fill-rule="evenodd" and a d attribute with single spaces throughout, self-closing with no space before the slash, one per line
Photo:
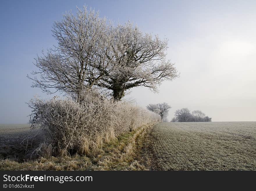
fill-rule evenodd
<path id="1" fill-rule="evenodd" d="M 0 170 L 256 170 L 256 122 L 151 124 L 95 156 L 33 155 L 42 140 L 28 124 L 1 125 Z"/>

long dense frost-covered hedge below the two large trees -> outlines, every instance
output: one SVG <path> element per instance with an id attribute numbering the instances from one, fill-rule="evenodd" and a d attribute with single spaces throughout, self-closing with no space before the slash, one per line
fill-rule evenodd
<path id="1" fill-rule="evenodd" d="M 104 142 L 161 117 L 128 103 L 115 102 L 92 91 L 80 100 L 31 99 L 31 128 L 42 128 L 45 143 L 38 149 L 45 155 L 88 154 Z"/>

